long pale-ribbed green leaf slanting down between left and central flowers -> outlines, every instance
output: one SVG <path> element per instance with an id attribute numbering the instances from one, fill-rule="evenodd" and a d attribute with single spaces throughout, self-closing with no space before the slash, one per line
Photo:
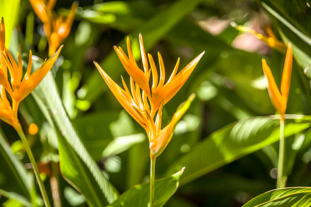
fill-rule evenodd
<path id="1" fill-rule="evenodd" d="M 33 60 L 34 65 L 37 63 L 36 66 L 38 66 L 38 62 L 40 61 L 37 59 Z M 60 169 L 63 175 L 68 178 L 74 187 L 87 196 L 86 200 L 91 206 L 103 206 L 107 201 L 112 202 L 115 200 L 117 191 L 103 176 L 94 158 L 88 153 L 72 125 L 61 102 L 51 72 L 46 75 L 32 92 L 32 95 L 49 123 L 52 126 L 55 124 L 62 134 L 62 136 L 58 136 L 58 144 L 61 157 Z M 72 158 L 75 159 L 74 162 Z M 91 196 L 89 196 L 90 194 Z"/>

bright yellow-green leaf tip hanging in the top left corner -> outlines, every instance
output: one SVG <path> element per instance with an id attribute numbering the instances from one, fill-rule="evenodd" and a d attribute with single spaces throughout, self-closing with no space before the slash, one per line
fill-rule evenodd
<path id="1" fill-rule="evenodd" d="M 19 14 L 20 0 L 0 0 L 0 18 L 3 17 L 6 28 L 6 47 L 9 48 L 13 28 Z"/>

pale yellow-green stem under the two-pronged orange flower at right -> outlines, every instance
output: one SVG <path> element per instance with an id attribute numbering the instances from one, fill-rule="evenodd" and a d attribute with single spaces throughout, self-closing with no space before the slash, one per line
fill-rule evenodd
<path id="1" fill-rule="evenodd" d="M 277 180 L 276 188 L 284 188 L 286 178 L 283 178 L 284 165 L 284 116 L 281 115 L 279 119 L 279 149 L 278 149 L 278 163 L 277 163 Z"/>

